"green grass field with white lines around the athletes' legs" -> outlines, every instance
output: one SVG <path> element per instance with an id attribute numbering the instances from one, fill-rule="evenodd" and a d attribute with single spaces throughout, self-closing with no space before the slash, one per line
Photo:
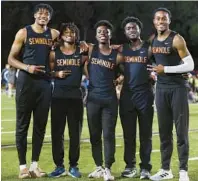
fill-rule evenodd
<path id="1" fill-rule="evenodd" d="M 17 151 L 15 148 L 15 102 L 14 98 L 7 98 L 2 94 L 1 96 L 1 180 L 2 181 L 16 181 L 18 179 L 18 158 Z M 67 128 L 65 130 L 65 166 L 68 168 L 68 134 Z M 160 168 L 160 152 L 159 152 L 159 136 L 158 136 L 158 126 L 156 113 L 154 117 L 153 124 L 153 152 L 152 152 L 152 174 L 154 174 Z M 175 131 L 174 131 L 175 133 Z M 32 123 L 30 125 L 28 133 L 28 152 L 27 152 L 27 161 L 28 164 L 31 160 L 31 135 L 32 135 Z M 138 135 L 138 133 L 137 133 Z M 116 177 L 116 180 L 120 181 L 129 181 L 136 179 L 122 179 L 120 178 L 120 173 L 125 167 L 123 161 L 123 137 L 122 137 L 122 128 L 120 125 L 120 120 L 118 119 L 117 128 L 116 128 L 116 162 L 113 164 L 112 172 Z M 190 181 L 198 181 L 198 104 L 190 105 L 190 158 L 189 160 L 189 175 Z M 51 172 L 54 169 L 54 164 L 51 154 L 51 139 L 50 139 L 50 117 L 46 130 L 45 143 L 43 145 L 42 153 L 40 156 L 40 167 L 46 172 Z M 10 145 L 10 146 L 6 146 Z M 139 163 L 139 138 L 137 137 L 137 167 Z M 195 159 L 196 158 L 196 159 Z M 174 174 L 174 179 L 172 181 L 178 181 L 178 156 L 176 149 L 176 137 L 174 134 L 174 152 L 172 156 L 171 168 Z M 91 156 L 91 147 L 89 143 L 89 133 L 87 127 L 87 118 L 84 114 L 84 126 L 82 132 L 82 142 L 81 142 L 81 156 L 79 160 L 79 168 L 83 174 L 83 177 L 79 180 L 81 181 L 92 181 L 94 179 L 88 179 L 87 175 L 95 168 L 94 162 Z M 32 180 L 32 179 L 31 179 Z M 40 178 L 35 180 L 55 180 L 55 181 L 71 181 L 77 180 L 69 176 L 61 177 L 58 179 L 52 178 Z M 103 179 L 97 179 L 102 181 Z"/>

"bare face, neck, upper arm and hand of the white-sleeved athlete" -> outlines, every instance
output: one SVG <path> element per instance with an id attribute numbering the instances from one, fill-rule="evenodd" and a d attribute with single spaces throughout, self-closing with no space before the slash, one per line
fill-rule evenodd
<path id="1" fill-rule="evenodd" d="M 153 24 L 157 30 L 157 39 L 159 41 L 164 41 L 169 36 L 171 32 L 169 29 L 170 23 L 171 20 L 167 12 L 157 11 L 155 13 Z M 181 59 L 190 55 L 184 38 L 178 34 L 173 39 L 173 48 L 178 52 Z M 148 70 L 154 71 L 158 74 L 163 74 L 164 66 L 161 64 L 157 66 L 148 65 Z"/>

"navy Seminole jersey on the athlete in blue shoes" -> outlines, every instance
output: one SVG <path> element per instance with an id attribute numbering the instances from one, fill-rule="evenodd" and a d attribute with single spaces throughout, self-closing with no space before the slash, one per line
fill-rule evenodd
<path id="1" fill-rule="evenodd" d="M 83 62 L 79 47 L 72 55 L 64 54 L 60 48 L 55 50 L 55 71 L 61 70 L 70 70 L 71 74 L 65 78 L 55 78 L 53 97 L 81 98 Z"/>

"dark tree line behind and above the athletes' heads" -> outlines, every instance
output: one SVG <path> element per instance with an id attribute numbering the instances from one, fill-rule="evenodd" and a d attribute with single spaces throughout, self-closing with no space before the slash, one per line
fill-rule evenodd
<path id="1" fill-rule="evenodd" d="M 120 25 L 126 16 L 136 16 L 144 24 L 142 38 L 154 32 L 153 10 L 166 7 L 172 13 L 171 29 L 179 32 L 186 40 L 198 69 L 198 2 L 166 1 L 43 1 L 54 9 L 49 24 L 58 29 L 62 22 L 75 22 L 81 30 L 81 40 L 95 41 L 94 24 L 101 19 L 109 20 L 115 27 L 113 43 L 125 41 Z M 40 2 L 1 2 L 1 65 L 4 67 L 16 32 L 34 22 L 33 7 Z"/>

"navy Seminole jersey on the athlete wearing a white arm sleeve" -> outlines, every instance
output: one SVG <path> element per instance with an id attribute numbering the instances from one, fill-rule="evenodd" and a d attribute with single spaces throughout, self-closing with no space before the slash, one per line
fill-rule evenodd
<path id="1" fill-rule="evenodd" d="M 164 40 L 159 41 L 157 37 L 152 42 L 152 53 L 157 65 L 175 66 L 181 64 L 181 58 L 176 49 L 173 48 L 173 39 L 177 33 L 171 31 L 170 35 Z M 185 87 L 186 81 L 181 74 L 166 73 L 157 76 L 157 87 L 174 88 Z"/>

